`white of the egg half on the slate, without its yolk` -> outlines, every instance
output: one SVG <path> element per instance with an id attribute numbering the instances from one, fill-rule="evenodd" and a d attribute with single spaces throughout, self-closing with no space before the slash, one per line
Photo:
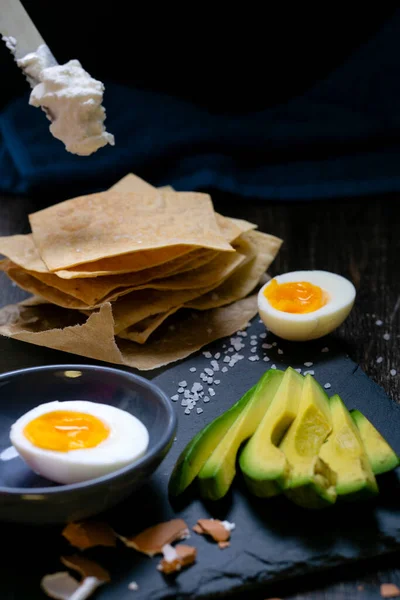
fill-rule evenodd
<path id="1" fill-rule="evenodd" d="M 354 285 L 341 275 L 328 271 L 292 271 L 274 278 L 277 283 L 307 281 L 322 288 L 329 297 L 322 308 L 297 314 L 277 310 L 264 295 L 268 281 L 258 293 L 258 311 L 267 329 L 278 337 L 292 341 L 313 340 L 339 327 L 350 314 L 356 297 Z"/>

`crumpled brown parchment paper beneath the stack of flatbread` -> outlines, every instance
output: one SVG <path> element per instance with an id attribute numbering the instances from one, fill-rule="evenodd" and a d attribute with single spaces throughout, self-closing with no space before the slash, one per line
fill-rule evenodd
<path id="1" fill-rule="evenodd" d="M 90 317 L 33 299 L 0 310 L 0 335 L 107 363 L 149 371 L 186 358 L 207 344 L 232 335 L 257 313 L 257 295 L 229 306 L 180 314 L 147 344 L 116 341 L 110 303 Z M 173 317 L 172 317 L 173 318 Z"/>

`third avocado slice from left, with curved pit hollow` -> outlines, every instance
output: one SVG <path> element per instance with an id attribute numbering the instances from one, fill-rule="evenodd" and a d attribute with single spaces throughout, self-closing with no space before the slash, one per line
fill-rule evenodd
<path id="1" fill-rule="evenodd" d="M 290 469 L 278 448 L 296 418 L 304 377 L 288 367 L 269 409 L 239 457 L 240 470 L 249 491 L 260 498 L 280 493 L 277 483 Z"/>

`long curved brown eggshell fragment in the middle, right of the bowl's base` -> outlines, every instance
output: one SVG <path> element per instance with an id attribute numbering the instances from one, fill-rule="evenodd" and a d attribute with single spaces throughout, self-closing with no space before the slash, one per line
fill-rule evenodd
<path id="1" fill-rule="evenodd" d="M 189 536 L 189 529 L 183 519 L 171 519 L 165 523 L 158 523 L 148 527 L 133 537 L 119 536 L 129 548 L 135 548 L 147 556 L 161 554 L 163 546 L 183 540 Z"/>

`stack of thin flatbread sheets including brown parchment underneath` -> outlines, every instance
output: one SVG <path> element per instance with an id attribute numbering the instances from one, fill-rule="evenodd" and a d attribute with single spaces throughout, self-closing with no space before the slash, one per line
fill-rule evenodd
<path id="1" fill-rule="evenodd" d="M 32 294 L 0 311 L 0 334 L 143 370 L 245 325 L 282 244 L 208 194 L 133 174 L 29 221 L 0 238 L 0 269 Z"/>

